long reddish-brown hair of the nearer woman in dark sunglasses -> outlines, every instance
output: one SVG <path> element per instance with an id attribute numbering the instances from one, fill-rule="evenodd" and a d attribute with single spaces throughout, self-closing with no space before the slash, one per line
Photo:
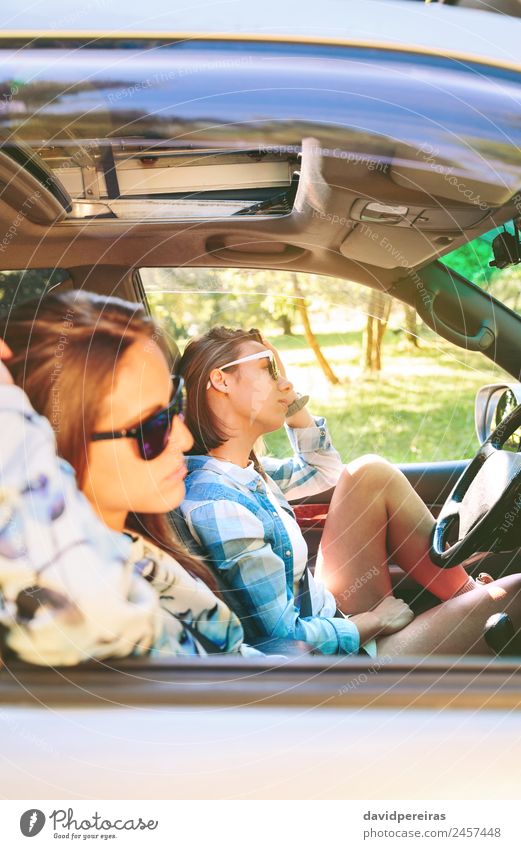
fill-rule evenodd
<path id="1" fill-rule="evenodd" d="M 172 361 L 161 329 L 141 304 L 90 292 L 52 294 L 16 307 L 0 323 L 0 335 L 13 352 L 9 370 L 15 383 L 50 421 L 58 454 L 75 469 L 80 488 L 100 403 L 125 351 L 146 336 Z M 131 513 L 128 526 L 215 590 L 212 574 L 176 539 L 165 514 Z"/>

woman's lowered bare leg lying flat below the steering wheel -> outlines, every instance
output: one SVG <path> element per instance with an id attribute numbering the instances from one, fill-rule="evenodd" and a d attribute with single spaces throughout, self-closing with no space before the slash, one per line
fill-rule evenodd
<path id="1" fill-rule="evenodd" d="M 521 575 L 500 578 L 427 610 L 396 634 L 377 638 L 379 655 L 492 654 L 483 639 L 493 613 L 521 627 Z"/>

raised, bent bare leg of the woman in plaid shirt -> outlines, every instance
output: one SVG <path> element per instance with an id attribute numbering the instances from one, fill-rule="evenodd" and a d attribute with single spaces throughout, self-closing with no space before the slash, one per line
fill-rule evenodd
<path id="1" fill-rule="evenodd" d="M 405 475 L 368 455 L 345 467 L 333 495 L 317 575 L 344 613 L 370 610 L 392 592 L 388 558 L 441 599 L 468 580 L 462 566 L 439 569 L 429 557 L 434 519 Z"/>

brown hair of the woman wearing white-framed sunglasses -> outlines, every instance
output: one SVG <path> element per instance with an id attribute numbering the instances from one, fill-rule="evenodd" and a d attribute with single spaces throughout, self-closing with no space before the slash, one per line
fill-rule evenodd
<path id="1" fill-rule="evenodd" d="M 213 448 L 223 445 L 229 438 L 224 422 L 213 412 L 208 402 L 206 386 L 210 372 L 240 357 L 245 342 L 261 342 L 258 330 L 233 330 L 230 327 L 212 327 L 202 336 L 192 339 L 186 346 L 177 370 L 186 383 L 185 421 L 192 433 L 194 444 L 189 454 L 208 454 Z M 227 371 L 235 371 L 232 366 Z M 255 469 L 264 476 L 264 471 L 255 454 L 250 453 Z"/>

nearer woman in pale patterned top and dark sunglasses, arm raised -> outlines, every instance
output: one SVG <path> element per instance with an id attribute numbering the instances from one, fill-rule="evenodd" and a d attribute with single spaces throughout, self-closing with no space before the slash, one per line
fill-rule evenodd
<path id="1" fill-rule="evenodd" d="M 254 653 L 165 519 L 184 495 L 192 437 L 182 380 L 144 309 L 50 295 L 15 309 L 0 335 L 7 648 L 44 664 Z"/>

